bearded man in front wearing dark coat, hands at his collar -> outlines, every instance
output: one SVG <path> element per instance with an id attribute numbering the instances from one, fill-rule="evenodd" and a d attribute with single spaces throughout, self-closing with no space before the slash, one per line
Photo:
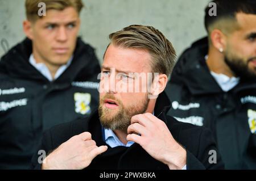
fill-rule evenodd
<path id="1" fill-rule="evenodd" d="M 222 169 L 207 128 L 166 116 L 164 89 L 175 60 L 170 41 L 138 25 L 109 38 L 98 111 L 46 132 L 39 150 L 47 157 L 41 164 L 37 152 L 34 169 Z"/>

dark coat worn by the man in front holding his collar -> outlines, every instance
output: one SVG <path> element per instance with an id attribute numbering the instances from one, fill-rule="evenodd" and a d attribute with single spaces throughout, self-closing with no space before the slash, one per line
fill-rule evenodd
<path id="1" fill-rule="evenodd" d="M 170 108 L 170 101 L 165 93 L 159 95 L 156 102 L 155 115 L 163 120 L 170 129 L 172 136 L 187 150 L 187 169 L 222 169 L 220 155 L 216 149 L 212 134 L 206 128 L 192 124 L 180 123 L 173 117 L 166 116 Z M 69 138 L 82 132 L 90 132 L 97 146 L 106 145 L 102 138 L 102 128 L 98 112 L 94 112 L 89 119 L 75 120 L 53 127 L 44 134 L 42 145 L 38 150 L 46 153 L 56 149 Z M 109 147 L 109 146 L 108 146 Z M 209 163 L 209 151 L 217 151 L 217 163 Z M 32 159 L 32 167 L 40 169 L 38 151 Z M 133 144 L 130 148 L 117 146 L 108 148 L 105 153 L 98 155 L 86 169 L 168 169 L 167 165 L 152 158 L 140 145 Z"/>

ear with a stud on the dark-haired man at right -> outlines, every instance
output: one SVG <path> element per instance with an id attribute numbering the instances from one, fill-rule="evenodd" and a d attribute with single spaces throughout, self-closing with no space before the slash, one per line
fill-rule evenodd
<path id="1" fill-rule="evenodd" d="M 212 40 L 212 45 L 219 52 L 223 52 L 226 49 L 226 36 L 220 30 L 214 29 L 210 33 L 210 39 Z"/>

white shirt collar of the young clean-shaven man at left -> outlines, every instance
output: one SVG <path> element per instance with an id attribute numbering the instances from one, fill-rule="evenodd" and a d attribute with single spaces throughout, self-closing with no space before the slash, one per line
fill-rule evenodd
<path id="1" fill-rule="evenodd" d="M 71 64 L 73 60 L 73 56 L 71 56 L 71 58 L 69 59 L 69 61 L 67 62 L 67 64 L 65 65 L 61 65 L 60 68 L 56 71 L 54 78 L 52 78 L 51 72 L 49 71 L 49 69 L 47 68 L 46 64 L 44 63 L 36 63 L 36 60 L 33 56 L 33 54 L 30 55 L 30 64 L 33 65 L 41 74 L 44 75 L 44 77 L 46 77 L 50 82 L 52 82 L 53 80 L 57 79 L 58 77 L 60 77 L 61 74 L 63 74 L 63 72 L 68 68 L 68 66 Z"/>

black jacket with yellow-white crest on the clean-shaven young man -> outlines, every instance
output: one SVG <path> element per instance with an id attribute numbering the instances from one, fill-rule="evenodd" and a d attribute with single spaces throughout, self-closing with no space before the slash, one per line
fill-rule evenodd
<path id="1" fill-rule="evenodd" d="M 72 64 L 53 82 L 29 63 L 31 53 L 25 39 L 0 61 L 0 169 L 29 169 L 43 131 L 98 105 L 100 65 L 90 45 L 77 39 Z"/>

